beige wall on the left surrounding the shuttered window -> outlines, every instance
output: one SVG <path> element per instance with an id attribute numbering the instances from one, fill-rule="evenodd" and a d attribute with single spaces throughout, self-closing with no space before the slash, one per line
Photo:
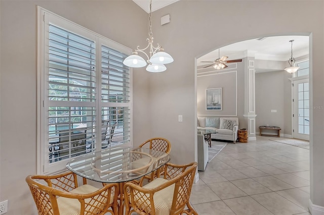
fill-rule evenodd
<path id="1" fill-rule="evenodd" d="M 8 215 L 36 214 L 25 177 L 36 173 L 39 5 L 130 48 L 146 45 L 148 14 L 132 1 L 1 1 L 0 201 Z M 150 137 L 148 75 L 134 70 L 134 142 Z M 134 143 L 134 145 L 135 145 Z"/>

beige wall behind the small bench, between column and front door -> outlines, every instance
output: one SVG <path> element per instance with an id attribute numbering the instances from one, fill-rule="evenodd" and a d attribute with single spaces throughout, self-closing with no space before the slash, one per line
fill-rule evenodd
<path id="1" fill-rule="evenodd" d="M 291 74 L 284 70 L 257 73 L 255 76 L 256 130 L 270 125 L 281 128 L 281 136 L 292 134 Z M 271 113 L 276 110 L 276 113 Z M 266 130 L 264 132 L 271 132 Z M 272 132 L 273 133 L 273 132 Z"/>

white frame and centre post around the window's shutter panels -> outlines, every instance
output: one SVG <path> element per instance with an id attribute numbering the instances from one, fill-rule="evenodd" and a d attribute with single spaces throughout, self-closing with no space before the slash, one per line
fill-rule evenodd
<path id="1" fill-rule="evenodd" d="M 55 162 L 49 164 L 48 157 L 48 145 L 49 145 L 49 100 L 48 100 L 48 71 L 49 68 L 49 55 L 47 53 L 47 47 L 49 45 L 49 39 L 46 39 L 46 31 L 49 30 L 49 24 L 55 23 L 58 27 L 61 27 L 66 30 L 70 30 L 73 33 L 76 33 L 80 36 L 92 39 L 95 41 L 96 45 L 96 118 L 97 126 L 99 128 L 99 121 L 101 122 L 101 108 L 102 101 L 100 98 L 101 95 L 101 46 L 104 45 L 116 51 L 125 53 L 126 55 L 131 55 L 132 49 L 121 45 L 111 39 L 108 39 L 100 34 L 97 34 L 83 26 L 80 26 L 74 22 L 71 22 L 55 13 L 52 13 L 42 7 L 37 6 L 37 174 L 54 174 L 65 171 L 65 165 L 68 162 L 68 159 L 64 159 L 63 162 Z M 128 103 L 116 103 L 113 106 L 129 106 L 130 111 L 130 141 L 129 143 L 124 144 L 125 146 L 133 145 L 133 110 L 132 110 L 132 99 L 133 99 L 133 71 L 132 68 L 129 69 L 129 90 L 130 90 L 130 100 Z M 101 138 L 101 129 L 96 131 L 97 138 Z M 101 147 L 98 147 L 101 144 L 101 141 L 96 143 L 96 151 L 101 150 Z M 75 157 L 73 157 L 75 158 Z"/>

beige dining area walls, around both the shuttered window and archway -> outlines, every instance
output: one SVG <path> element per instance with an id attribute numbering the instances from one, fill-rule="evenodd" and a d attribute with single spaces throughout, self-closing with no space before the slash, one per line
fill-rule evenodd
<path id="1" fill-rule="evenodd" d="M 36 5 L 131 48 L 143 47 L 148 31 L 147 14 L 131 1 L 1 1 L 0 200 L 9 199 L 8 215 L 35 214 L 24 178 L 36 172 Z M 160 26 L 166 14 L 171 22 Z M 311 102 L 324 105 L 323 14 L 322 1 L 182 0 L 154 12 L 154 41 L 175 61 L 164 73 L 134 70 L 134 145 L 163 136 L 172 142 L 171 162 L 196 159 L 195 58 L 242 40 L 312 32 Z M 311 116 L 311 200 L 324 206 L 323 110 Z"/>

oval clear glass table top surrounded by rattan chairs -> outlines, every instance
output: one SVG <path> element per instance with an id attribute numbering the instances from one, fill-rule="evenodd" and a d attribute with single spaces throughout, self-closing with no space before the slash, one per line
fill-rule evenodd
<path id="1" fill-rule="evenodd" d="M 170 155 L 162 151 L 117 146 L 79 156 L 66 167 L 90 180 L 119 183 L 147 175 L 170 159 Z"/>

